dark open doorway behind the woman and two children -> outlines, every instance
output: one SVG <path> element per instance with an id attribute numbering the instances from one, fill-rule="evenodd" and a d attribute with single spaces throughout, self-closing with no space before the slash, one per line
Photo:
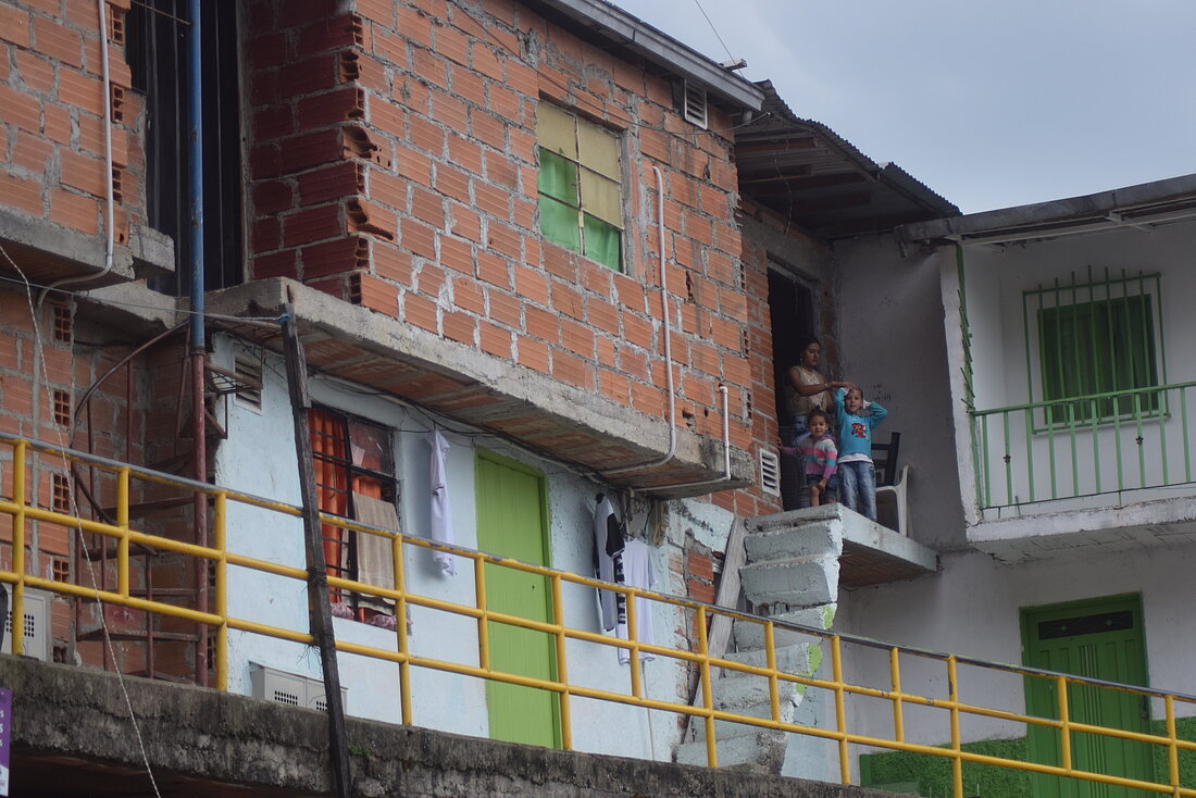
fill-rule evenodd
<path id="1" fill-rule="evenodd" d="M 781 440 L 788 444 L 792 437 L 786 385 L 787 372 L 798 363 L 801 345 L 814 334 L 813 290 L 782 272 L 779 266 L 768 269 L 768 315 L 773 324 L 773 384 L 776 386 L 776 421 Z M 797 461 L 781 457 L 781 500 L 786 510 L 794 510 L 797 502 Z"/>

